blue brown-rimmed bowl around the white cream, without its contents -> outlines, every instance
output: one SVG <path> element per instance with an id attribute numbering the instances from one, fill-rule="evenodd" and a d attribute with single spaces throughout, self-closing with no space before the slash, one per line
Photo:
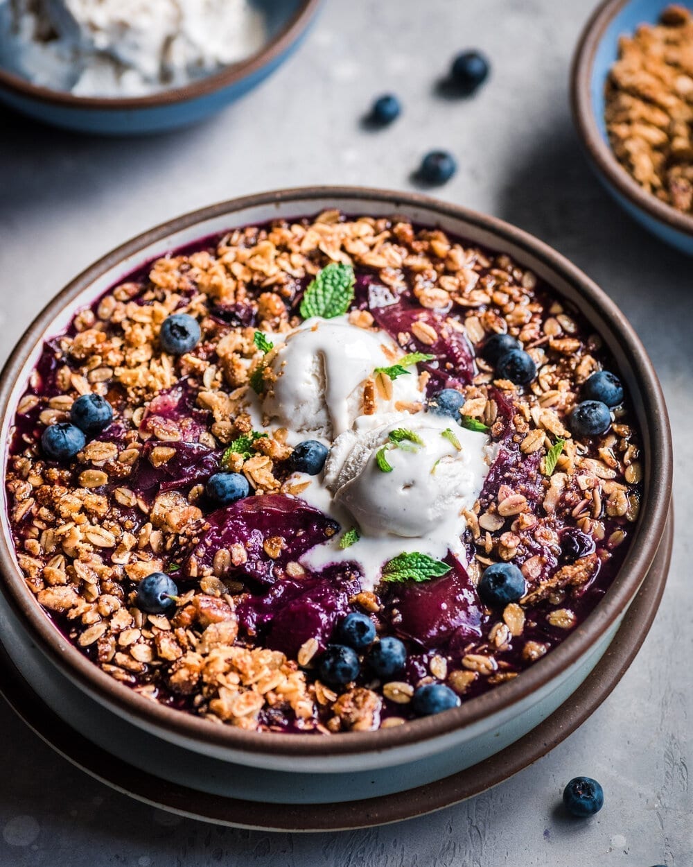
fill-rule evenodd
<path id="1" fill-rule="evenodd" d="M 256 0 L 268 42 L 255 55 L 184 88 L 106 99 L 39 88 L 0 68 L 0 101 L 55 127 L 101 135 L 139 135 L 190 126 L 224 108 L 267 78 L 301 42 L 320 0 Z"/>

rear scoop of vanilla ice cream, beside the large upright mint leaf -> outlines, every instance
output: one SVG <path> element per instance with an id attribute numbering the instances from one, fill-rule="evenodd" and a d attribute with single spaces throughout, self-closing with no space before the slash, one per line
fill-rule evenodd
<path id="1" fill-rule="evenodd" d="M 403 355 L 384 331 L 358 328 L 346 316 L 308 319 L 288 335 L 270 362 L 276 380 L 262 410 L 270 420 L 297 433 L 334 440 L 364 413 L 364 386 L 375 368 L 389 367 Z M 392 396 L 379 394 L 377 412 L 398 404 L 421 404 L 416 368 L 392 381 Z"/>

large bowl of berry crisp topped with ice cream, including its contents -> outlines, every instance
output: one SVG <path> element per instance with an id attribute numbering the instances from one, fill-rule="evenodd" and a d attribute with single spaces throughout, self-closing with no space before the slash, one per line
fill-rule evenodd
<path id="1" fill-rule="evenodd" d="M 359 799 L 489 758 L 579 694 L 666 557 L 666 407 L 623 314 L 423 195 L 148 231 L 42 311 L 0 401 L 7 654 L 200 791 Z"/>

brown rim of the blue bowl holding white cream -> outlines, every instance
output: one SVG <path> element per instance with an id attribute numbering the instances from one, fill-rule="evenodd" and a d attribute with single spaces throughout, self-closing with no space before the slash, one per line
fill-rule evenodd
<path id="1" fill-rule="evenodd" d="M 124 111 L 138 108 L 165 108 L 181 102 L 190 102 L 217 90 L 243 81 L 248 75 L 259 71 L 281 57 L 308 28 L 321 0 L 299 0 L 294 14 L 262 49 L 231 63 L 212 75 L 205 75 L 179 88 L 169 88 L 144 96 L 77 96 L 63 90 L 51 90 L 0 67 L 0 88 L 10 93 L 29 97 L 32 100 L 59 105 L 63 108 L 98 109 L 100 111 Z"/>

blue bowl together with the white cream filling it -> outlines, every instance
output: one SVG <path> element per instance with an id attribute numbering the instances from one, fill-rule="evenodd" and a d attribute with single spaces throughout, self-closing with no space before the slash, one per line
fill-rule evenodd
<path id="1" fill-rule="evenodd" d="M 319 3 L 0 0 L 0 101 L 83 133 L 190 126 L 278 68 Z"/>

